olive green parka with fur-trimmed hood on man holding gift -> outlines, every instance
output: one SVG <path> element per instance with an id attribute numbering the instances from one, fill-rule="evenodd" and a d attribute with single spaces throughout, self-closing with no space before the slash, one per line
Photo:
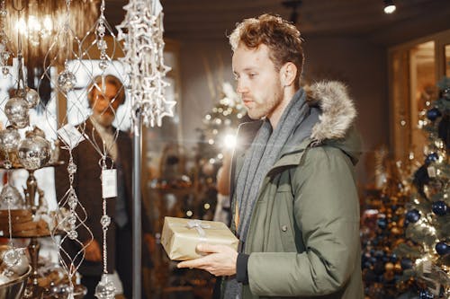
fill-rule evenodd
<path id="1" fill-rule="evenodd" d="M 244 246 L 249 254 L 244 299 L 364 297 L 356 110 L 343 84 L 319 83 L 305 91 L 311 109 L 320 109 L 320 120 L 309 138 L 282 154 L 259 190 Z M 260 125 L 239 128 L 239 142 L 247 142 L 234 155 L 232 186 Z M 233 198 L 232 211 L 235 203 Z M 231 229 L 236 231 L 234 221 Z"/>

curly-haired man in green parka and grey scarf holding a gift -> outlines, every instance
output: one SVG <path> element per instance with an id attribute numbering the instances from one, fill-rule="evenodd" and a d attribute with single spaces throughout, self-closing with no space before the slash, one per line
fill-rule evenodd
<path id="1" fill-rule="evenodd" d="M 229 37 L 237 92 L 252 123 L 238 130 L 231 169 L 231 230 L 238 252 L 178 264 L 228 276 L 226 298 L 363 298 L 353 166 L 356 110 L 343 84 L 300 87 L 300 32 L 272 15 Z"/>

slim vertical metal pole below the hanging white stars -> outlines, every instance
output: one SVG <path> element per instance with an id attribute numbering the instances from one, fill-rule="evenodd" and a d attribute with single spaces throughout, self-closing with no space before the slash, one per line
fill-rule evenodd
<path id="1" fill-rule="evenodd" d="M 136 111 L 137 116 L 137 124 L 134 128 L 133 134 L 133 299 L 141 299 L 141 282 L 142 282 L 142 270 L 141 270 L 141 231 L 142 231 L 142 222 L 141 222 L 141 213 L 140 213 L 140 205 L 141 205 L 141 194 L 140 194 L 140 160 L 141 160 L 141 152 L 142 152 L 142 121 L 141 121 L 141 113 L 140 111 Z M 126 244 L 123 244 L 126 246 Z M 120 257 L 119 257 L 120 259 Z"/>

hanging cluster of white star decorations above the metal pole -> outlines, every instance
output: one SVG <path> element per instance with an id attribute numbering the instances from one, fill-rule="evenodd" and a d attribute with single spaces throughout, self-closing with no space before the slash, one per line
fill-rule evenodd
<path id="1" fill-rule="evenodd" d="M 174 116 L 176 104 L 165 97 L 170 67 L 164 64 L 162 5 L 158 0 L 134 0 L 123 9 L 127 13 L 117 31 L 125 53 L 121 61 L 130 65 L 133 129 L 140 115 L 145 126 L 161 127 L 165 116 Z"/>

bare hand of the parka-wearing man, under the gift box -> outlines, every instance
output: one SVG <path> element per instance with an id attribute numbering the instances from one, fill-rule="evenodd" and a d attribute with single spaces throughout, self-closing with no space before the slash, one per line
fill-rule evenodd
<path id="1" fill-rule="evenodd" d="M 238 251 L 225 245 L 198 244 L 197 251 L 207 255 L 200 259 L 180 262 L 178 268 L 201 268 L 216 277 L 236 274 Z"/>

